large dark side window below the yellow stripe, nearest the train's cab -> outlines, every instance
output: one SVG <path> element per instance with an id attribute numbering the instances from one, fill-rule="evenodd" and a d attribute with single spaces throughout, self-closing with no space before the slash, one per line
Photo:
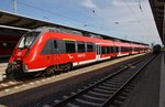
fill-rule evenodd
<path id="1" fill-rule="evenodd" d="M 66 46 L 66 53 L 75 53 L 76 52 L 74 41 L 66 41 L 65 46 Z"/>

